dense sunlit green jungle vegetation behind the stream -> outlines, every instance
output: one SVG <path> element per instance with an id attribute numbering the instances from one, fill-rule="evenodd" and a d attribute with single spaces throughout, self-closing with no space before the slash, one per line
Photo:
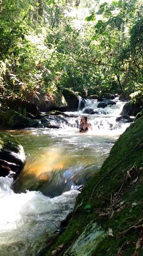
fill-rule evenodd
<path id="1" fill-rule="evenodd" d="M 0 0 L 0 96 L 143 95 L 141 0 Z"/>

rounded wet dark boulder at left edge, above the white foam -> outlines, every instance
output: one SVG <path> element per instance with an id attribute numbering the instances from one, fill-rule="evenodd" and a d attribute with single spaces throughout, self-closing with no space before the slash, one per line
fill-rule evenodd
<path id="1" fill-rule="evenodd" d="M 20 143 L 12 136 L 0 132 L 0 176 L 7 176 L 11 171 L 17 176 L 25 164 L 25 153 Z"/>

